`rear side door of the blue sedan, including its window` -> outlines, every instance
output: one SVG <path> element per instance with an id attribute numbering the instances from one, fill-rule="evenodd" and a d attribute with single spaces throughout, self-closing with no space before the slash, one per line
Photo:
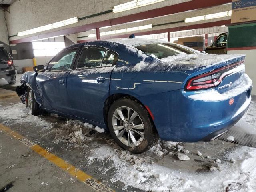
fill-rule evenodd
<path id="1" fill-rule="evenodd" d="M 75 69 L 68 74 L 68 107 L 72 114 L 104 123 L 103 106 L 118 54 L 98 46 L 84 46 Z"/>

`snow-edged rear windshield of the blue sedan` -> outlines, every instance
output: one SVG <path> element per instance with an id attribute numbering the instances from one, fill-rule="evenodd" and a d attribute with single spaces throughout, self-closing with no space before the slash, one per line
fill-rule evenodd
<path id="1" fill-rule="evenodd" d="M 196 50 L 186 48 L 185 46 L 180 46 L 178 44 L 170 44 L 170 43 L 152 43 L 136 46 L 138 50 L 142 52 L 156 57 L 158 59 L 166 58 L 169 56 L 175 56 L 179 54 L 193 54 L 197 53 Z"/>

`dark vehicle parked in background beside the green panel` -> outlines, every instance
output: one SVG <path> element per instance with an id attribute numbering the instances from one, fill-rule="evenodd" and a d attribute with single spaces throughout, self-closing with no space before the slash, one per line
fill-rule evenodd
<path id="1" fill-rule="evenodd" d="M 227 54 L 228 33 L 220 34 L 211 46 L 206 47 L 206 53 Z"/>

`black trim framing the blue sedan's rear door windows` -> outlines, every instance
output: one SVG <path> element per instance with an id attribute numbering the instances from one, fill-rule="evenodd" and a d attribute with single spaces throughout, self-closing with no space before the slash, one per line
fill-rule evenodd
<path id="1" fill-rule="evenodd" d="M 90 68 L 77 68 L 77 65 L 78 65 L 78 61 L 82 55 L 82 52 L 84 50 L 84 48 L 90 48 L 90 47 L 95 47 L 95 48 L 100 48 L 102 50 L 105 50 L 106 52 L 110 52 L 111 54 L 113 54 L 115 57 L 114 57 L 114 61 L 113 61 L 113 64 L 110 65 L 110 66 L 98 66 L 98 67 L 90 67 Z M 102 64 L 103 64 L 103 60 L 105 58 L 105 55 L 104 57 L 102 58 Z M 80 51 L 79 51 L 79 55 L 76 57 L 76 61 L 75 61 L 75 64 L 74 64 L 74 67 L 73 67 L 73 70 L 87 70 L 87 69 L 94 69 L 94 68 L 103 68 L 103 67 L 112 67 L 112 66 L 116 66 L 117 64 L 117 61 L 118 61 L 118 58 L 119 58 L 119 54 L 113 50 L 110 50 L 109 48 L 106 48 L 106 47 L 102 47 L 102 46 L 97 46 L 97 45 L 83 45 L 80 47 Z"/>

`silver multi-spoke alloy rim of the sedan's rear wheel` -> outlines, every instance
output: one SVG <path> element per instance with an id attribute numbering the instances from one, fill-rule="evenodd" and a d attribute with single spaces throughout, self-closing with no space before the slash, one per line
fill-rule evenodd
<path id="1" fill-rule="evenodd" d="M 122 106 L 115 110 L 112 125 L 117 138 L 126 146 L 136 147 L 144 139 L 144 124 L 136 111 Z"/>

